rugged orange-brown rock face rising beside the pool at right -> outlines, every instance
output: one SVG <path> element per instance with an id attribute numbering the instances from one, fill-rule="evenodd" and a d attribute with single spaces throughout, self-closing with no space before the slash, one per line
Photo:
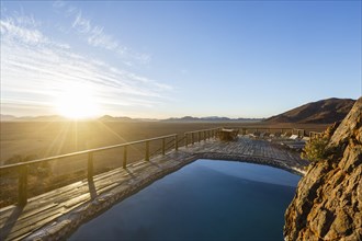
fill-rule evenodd
<path id="1" fill-rule="evenodd" d="M 362 240 L 362 97 L 312 163 L 285 213 L 285 240 Z"/>

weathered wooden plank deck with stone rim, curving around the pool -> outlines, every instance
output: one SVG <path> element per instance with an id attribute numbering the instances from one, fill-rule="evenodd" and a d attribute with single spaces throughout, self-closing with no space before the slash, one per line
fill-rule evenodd
<path id="1" fill-rule="evenodd" d="M 146 185 L 197 159 L 247 161 L 304 173 L 299 154 L 264 140 L 201 141 L 150 161 L 129 163 L 29 199 L 24 207 L 0 209 L 0 240 L 64 240 L 81 223 Z"/>

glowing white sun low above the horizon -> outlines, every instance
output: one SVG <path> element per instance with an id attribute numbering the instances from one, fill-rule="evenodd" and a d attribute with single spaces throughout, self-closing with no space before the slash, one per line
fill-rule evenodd
<path id="1" fill-rule="evenodd" d="M 72 119 L 93 117 L 99 110 L 94 93 L 87 84 L 69 84 L 61 88 L 55 105 L 61 116 Z"/>

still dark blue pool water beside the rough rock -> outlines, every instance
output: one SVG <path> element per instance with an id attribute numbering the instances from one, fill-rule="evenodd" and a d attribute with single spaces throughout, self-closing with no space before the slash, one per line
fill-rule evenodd
<path id="1" fill-rule="evenodd" d="M 299 176 L 197 160 L 81 226 L 70 240 L 283 240 Z"/>

